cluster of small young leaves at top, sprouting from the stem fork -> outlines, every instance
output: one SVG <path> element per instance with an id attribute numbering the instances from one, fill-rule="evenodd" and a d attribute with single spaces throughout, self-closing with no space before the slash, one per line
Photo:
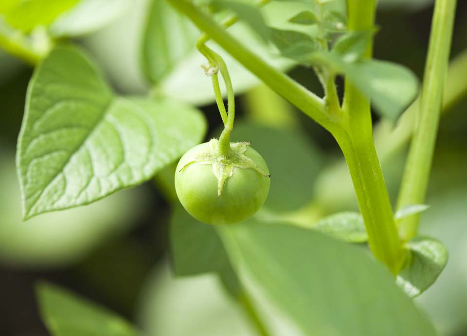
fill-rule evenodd
<path id="1" fill-rule="evenodd" d="M 332 1 L 304 2 L 306 10 L 288 18 L 297 29 L 269 27 L 261 11 L 234 0 L 216 0 L 234 12 L 282 57 L 313 67 L 326 91 L 328 80 L 345 76 L 368 97 L 376 111 L 395 121 L 418 94 L 418 79 L 409 69 L 392 62 L 366 59 L 377 28 L 348 31 L 347 19 Z"/>

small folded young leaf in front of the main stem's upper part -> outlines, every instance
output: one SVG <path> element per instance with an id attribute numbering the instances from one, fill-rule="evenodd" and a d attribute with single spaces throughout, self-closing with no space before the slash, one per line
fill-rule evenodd
<path id="1" fill-rule="evenodd" d="M 338 55 L 344 62 L 355 62 L 365 52 L 372 36 L 373 32 L 371 31 L 349 32 L 344 34 L 336 40 L 331 53 Z"/>

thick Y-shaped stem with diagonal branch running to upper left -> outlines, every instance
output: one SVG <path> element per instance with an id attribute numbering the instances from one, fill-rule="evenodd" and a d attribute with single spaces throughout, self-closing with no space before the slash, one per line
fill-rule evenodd
<path id="1" fill-rule="evenodd" d="M 264 62 L 193 3 L 188 0 L 168 1 L 260 80 L 334 135 L 350 168 L 370 247 L 378 260 L 397 273 L 403 261 L 402 245 L 373 144 L 368 100 L 350 83 L 346 83 L 343 111 L 339 109 L 338 115 L 329 113 L 322 99 Z M 350 29 L 361 30 L 373 26 L 374 0 L 349 0 L 348 4 Z M 370 47 L 367 56 L 371 56 Z M 335 97 L 332 99 L 336 104 Z M 226 134 L 230 134 L 228 125 L 229 121 L 226 123 Z"/>

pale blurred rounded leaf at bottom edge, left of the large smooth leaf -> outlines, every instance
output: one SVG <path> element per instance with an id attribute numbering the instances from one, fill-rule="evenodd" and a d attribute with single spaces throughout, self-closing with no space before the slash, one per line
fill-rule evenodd
<path id="1" fill-rule="evenodd" d="M 213 274 L 174 277 L 163 263 L 140 298 L 138 320 L 148 336 L 257 336 Z"/>

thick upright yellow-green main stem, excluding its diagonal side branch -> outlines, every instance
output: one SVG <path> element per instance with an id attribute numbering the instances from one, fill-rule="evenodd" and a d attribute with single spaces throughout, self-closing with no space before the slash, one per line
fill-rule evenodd
<path id="1" fill-rule="evenodd" d="M 371 29 L 375 19 L 374 0 L 348 0 L 348 27 Z M 365 57 L 371 57 L 368 46 Z M 373 142 L 370 102 L 345 81 L 343 110 L 348 118 L 347 136 L 337 138 L 350 169 L 352 182 L 365 221 L 370 248 L 393 273 L 400 269 L 404 254 L 397 235 L 389 195 Z"/>

